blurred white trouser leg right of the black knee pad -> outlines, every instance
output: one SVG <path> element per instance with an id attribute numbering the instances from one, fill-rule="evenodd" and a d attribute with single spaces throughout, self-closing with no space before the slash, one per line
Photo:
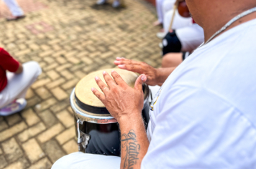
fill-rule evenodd
<path id="1" fill-rule="evenodd" d="M 198 24 L 176 29 L 176 35 L 180 40 L 182 52 L 192 52 L 204 42 L 204 29 Z"/>

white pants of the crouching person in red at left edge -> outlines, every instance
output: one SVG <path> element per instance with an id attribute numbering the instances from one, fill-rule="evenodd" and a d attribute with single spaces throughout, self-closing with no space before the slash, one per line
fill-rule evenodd
<path id="1" fill-rule="evenodd" d="M 7 85 L 0 92 L 0 109 L 15 99 L 24 98 L 31 84 L 42 72 L 40 65 L 34 61 L 24 63 L 22 66 L 23 72 L 20 74 L 7 72 Z"/>

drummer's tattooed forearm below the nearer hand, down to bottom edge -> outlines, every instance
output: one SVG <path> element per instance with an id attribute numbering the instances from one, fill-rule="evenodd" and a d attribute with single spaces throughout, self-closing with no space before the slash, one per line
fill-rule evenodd
<path id="1" fill-rule="evenodd" d="M 140 168 L 150 144 L 141 114 L 124 117 L 119 120 L 119 126 L 121 130 L 120 168 Z"/>

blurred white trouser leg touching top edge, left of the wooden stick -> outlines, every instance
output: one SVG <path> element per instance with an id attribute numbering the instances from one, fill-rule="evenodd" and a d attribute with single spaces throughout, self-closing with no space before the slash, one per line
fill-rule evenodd
<path id="1" fill-rule="evenodd" d="M 173 5 L 175 3 L 175 0 L 156 0 L 156 8 L 157 8 L 157 17 L 158 21 L 163 23 L 163 18 L 165 16 L 165 13 L 167 11 L 170 11 L 170 9 L 173 9 Z"/>

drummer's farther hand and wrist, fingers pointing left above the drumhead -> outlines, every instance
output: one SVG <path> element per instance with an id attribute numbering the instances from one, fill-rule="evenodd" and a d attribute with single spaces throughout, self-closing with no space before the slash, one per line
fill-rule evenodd
<path id="1" fill-rule="evenodd" d="M 137 62 L 131 59 L 116 57 L 114 64 L 116 64 L 120 69 L 127 69 L 132 72 L 145 74 L 147 77 L 147 81 L 145 83 L 148 85 L 155 86 L 159 83 L 157 80 L 157 69 L 151 67 L 145 62 Z"/>

